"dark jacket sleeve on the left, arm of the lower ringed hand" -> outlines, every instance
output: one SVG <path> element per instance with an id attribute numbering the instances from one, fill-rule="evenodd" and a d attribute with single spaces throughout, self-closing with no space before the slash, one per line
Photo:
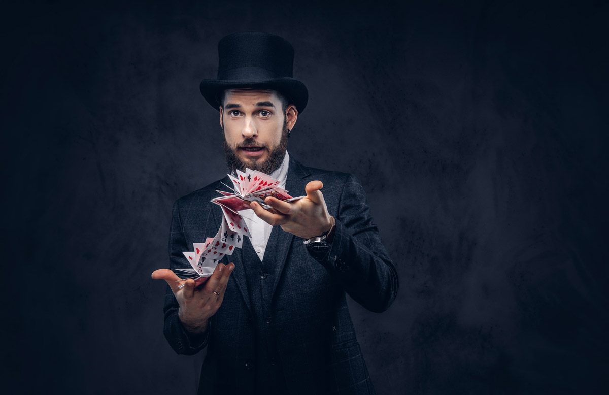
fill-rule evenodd
<path id="1" fill-rule="evenodd" d="M 169 232 L 170 269 L 190 267 L 188 262 L 186 262 L 184 254 L 182 254 L 183 251 L 188 251 L 188 247 L 186 246 L 180 219 L 179 201 L 176 201 L 174 203 L 171 230 Z M 179 308 L 180 306 L 178 305 L 177 299 L 175 299 L 174 293 L 171 291 L 171 288 L 169 288 L 169 285 L 167 285 L 165 306 L 163 308 L 165 313 L 165 326 L 163 331 L 165 338 L 177 354 L 193 355 L 207 346 L 211 322 L 205 333 L 193 336 L 186 332 L 186 329 L 182 326 L 180 319 L 178 318 Z"/>

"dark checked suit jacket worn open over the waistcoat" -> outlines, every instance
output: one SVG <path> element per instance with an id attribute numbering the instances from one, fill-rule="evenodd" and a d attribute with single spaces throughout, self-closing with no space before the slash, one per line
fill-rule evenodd
<path id="1" fill-rule="evenodd" d="M 303 240 L 273 227 L 267 253 L 275 252 L 270 289 L 273 339 L 290 394 L 373 394 L 374 389 L 351 323 L 345 292 L 370 311 L 392 304 L 398 276 L 372 222 L 364 190 L 356 177 L 307 168 L 290 160 L 286 189 L 305 194 L 312 180 L 323 182 L 323 196 L 336 218 L 331 251 L 313 258 Z M 230 185 L 228 177 L 223 180 Z M 174 204 L 169 254 L 171 268 L 189 267 L 182 254 L 192 243 L 213 237 L 220 227 L 220 207 L 209 202 L 224 187 L 215 182 Z M 225 188 L 224 188 L 225 189 Z M 256 369 L 256 328 L 241 250 L 225 257 L 235 268 L 222 306 L 203 338 L 192 338 L 178 320 L 178 304 L 167 288 L 164 333 L 178 354 L 208 347 L 199 393 L 252 394 Z M 272 377 L 269 377 L 272 380 Z"/>

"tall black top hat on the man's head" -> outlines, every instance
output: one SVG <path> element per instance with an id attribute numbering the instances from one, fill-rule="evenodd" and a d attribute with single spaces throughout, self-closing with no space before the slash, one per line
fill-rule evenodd
<path id="1" fill-rule="evenodd" d="M 309 99 L 305 84 L 292 78 L 294 48 L 278 35 L 269 33 L 233 33 L 218 43 L 218 77 L 204 79 L 203 98 L 219 109 L 220 93 L 231 88 L 266 88 L 280 92 L 298 112 Z"/>

